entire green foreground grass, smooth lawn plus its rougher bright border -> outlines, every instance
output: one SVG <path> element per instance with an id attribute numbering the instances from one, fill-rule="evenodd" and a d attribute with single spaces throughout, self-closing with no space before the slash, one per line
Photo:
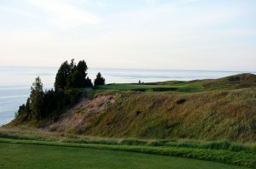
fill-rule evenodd
<path id="1" fill-rule="evenodd" d="M 22 161 L 26 161 L 25 164 L 27 165 L 27 166 L 22 166 L 22 168 L 32 166 L 33 165 L 32 163 L 35 163 L 37 165 L 41 164 L 42 166 L 40 167 L 44 167 L 46 165 L 46 167 L 44 168 L 50 168 L 49 166 L 55 166 L 54 168 L 58 168 L 59 165 L 60 165 L 60 168 L 63 168 L 61 167 L 62 165 L 64 165 L 62 164 L 63 161 L 70 163 L 70 165 L 78 164 L 84 167 L 86 166 L 86 164 L 87 165 L 95 164 L 96 165 L 95 168 L 134 168 L 137 165 L 138 165 L 137 166 L 138 168 L 156 168 L 156 167 L 170 168 L 171 166 L 173 166 L 173 168 L 237 168 L 236 166 L 221 166 L 221 164 L 208 163 L 207 161 L 215 161 L 215 162 L 222 162 L 222 163 L 232 164 L 237 166 L 247 166 L 251 168 L 256 168 L 255 154 L 248 154 L 245 152 L 231 152 L 226 150 L 191 149 L 191 148 L 177 148 L 177 147 L 166 148 L 166 147 L 131 146 L 131 145 L 72 144 L 72 143 L 61 143 L 61 142 L 37 141 L 37 140 L 18 140 L 18 139 L 9 139 L 9 138 L 0 138 L 0 143 L 1 143 L 0 144 L 0 148 L 1 148 L 0 161 L 2 161 L 0 162 L 0 165 L 2 166 L 9 165 L 1 168 L 17 168 L 18 166 L 15 166 L 15 165 L 19 163 L 21 164 Z M 38 145 L 40 145 L 40 147 L 37 147 Z M 77 149 L 77 148 L 85 148 L 90 150 L 85 151 L 83 149 Z M 54 150 L 54 149 L 57 149 L 57 150 Z M 127 152 L 118 152 L 118 151 L 111 152 L 111 151 L 104 151 L 103 149 L 134 152 L 134 154 L 132 155 L 135 156 L 134 158 L 137 159 L 137 161 L 132 161 L 131 159 L 125 160 L 125 158 L 129 158 L 129 155 L 131 155 L 131 154 L 127 154 Z M 22 151 L 24 152 L 22 153 Z M 99 151 L 98 154 L 96 153 L 96 155 L 98 156 L 94 156 L 93 153 L 90 155 L 90 151 L 94 151 L 94 154 L 96 153 L 96 151 Z M 103 151 L 103 152 L 101 153 L 100 151 Z M 108 153 L 109 155 L 104 155 L 104 152 Z M 59 153 L 59 155 L 55 155 L 55 153 Z M 150 156 L 150 155 L 143 156 L 143 154 L 140 154 L 140 153 L 153 154 L 156 156 Z M 123 154 L 123 155 L 119 155 L 119 154 Z M 83 155 L 85 155 L 85 157 L 83 157 Z M 169 160 L 168 159 L 169 157 L 163 157 L 163 156 L 157 156 L 157 155 L 185 157 L 189 159 L 197 159 L 197 160 L 204 160 L 204 161 L 191 161 L 191 160 L 180 159 L 180 161 L 182 162 L 179 164 L 176 161 L 173 162 L 175 160 L 175 158 L 173 157 L 170 157 L 170 160 Z M 122 156 L 124 156 L 123 157 L 124 159 L 121 159 L 121 160 L 116 159 Z M 139 158 L 140 156 L 143 156 L 142 158 L 144 158 L 144 160 Z M 33 160 L 32 159 L 33 157 L 36 158 L 36 160 Z M 93 160 L 90 161 L 88 158 L 89 159 L 93 158 Z M 163 162 L 159 162 L 157 160 L 158 158 L 160 159 L 160 161 L 163 161 Z M 60 159 L 60 160 L 57 160 L 57 159 Z M 51 165 L 50 165 L 50 162 L 48 163 L 45 161 L 51 161 Z M 114 162 L 111 162 L 111 161 L 114 161 Z M 192 164 L 191 166 L 189 164 L 189 161 L 194 163 L 195 166 L 193 166 Z M 13 164 L 10 164 L 10 163 L 13 163 Z M 128 163 L 128 166 L 125 163 Z M 150 163 L 152 164 L 148 165 Z M 102 165 L 102 166 L 97 166 L 97 165 Z M 129 165 L 135 165 L 135 166 L 129 166 Z M 160 167 L 159 165 L 163 165 L 163 166 Z M 179 166 L 179 165 L 183 165 L 183 166 Z M 199 167 L 198 165 L 202 165 L 202 166 Z M 40 168 L 40 167 L 34 166 L 34 168 Z M 78 166 L 78 167 L 81 167 L 81 166 Z M 73 167 L 69 166 L 67 168 L 73 168 Z M 88 167 L 88 168 L 94 168 L 94 166 Z"/>

